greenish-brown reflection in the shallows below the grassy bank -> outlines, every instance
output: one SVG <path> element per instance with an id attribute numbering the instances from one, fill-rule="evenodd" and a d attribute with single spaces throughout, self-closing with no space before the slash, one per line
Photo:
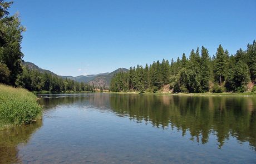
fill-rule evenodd
<path id="1" fill-rule="evenodd" d="M 0 131 L 0 163 L 21 163 L 17 146 L 27 143 L 41 126 L 42 121 L 38 120 L 30 125 Z"/>

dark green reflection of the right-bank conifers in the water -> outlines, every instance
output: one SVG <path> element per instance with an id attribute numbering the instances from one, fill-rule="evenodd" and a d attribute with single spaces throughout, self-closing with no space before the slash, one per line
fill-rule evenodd
<path id="1" fill-rule="evenodd" d="M 256 147 L 256 99 L 253 97 L 110 96 L 112 110 L 155 127 L 177 128 L 183 136 L 206 143 L 214 133 L 223 146 L 232 135 Z"/>

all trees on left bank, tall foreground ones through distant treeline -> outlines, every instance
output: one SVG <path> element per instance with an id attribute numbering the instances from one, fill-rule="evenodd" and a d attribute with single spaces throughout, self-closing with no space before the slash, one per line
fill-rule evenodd
<path id="1" fill-rule="evenodd" d="M 24 54 L 21 52 L 21 41 L 26 28 L 21 25 L 18 14 L 9 16 L 8 8 L 11 4 L 0 0 L 0 83 L 23 87 L 29 91 L 93 91 L 85 83 L 29 70 L 22 65 Z"/>

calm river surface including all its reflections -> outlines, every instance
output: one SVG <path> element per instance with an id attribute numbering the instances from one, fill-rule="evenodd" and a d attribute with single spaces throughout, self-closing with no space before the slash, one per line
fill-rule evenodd
<path id="1" fill-rule="evenodd" d="M 256 97 L 38 95 L 0 131 L 0 163 L 256 163 Z"/>

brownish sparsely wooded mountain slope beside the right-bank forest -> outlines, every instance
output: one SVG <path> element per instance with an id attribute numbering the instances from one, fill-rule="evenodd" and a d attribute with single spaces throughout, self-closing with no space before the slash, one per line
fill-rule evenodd
<path id="1" fill-rule="evenodd" d="M 129 69 L 126 68 L 118 68 L 115 71 L 108 73 L 108 74 L 101 74 L 93 78 L 91 81 L 88 82 L 89 85 L 95 86 L 97 88 L 109 88 L 111 78 L 114 74 L 119 72 L 127 72 Z"/>

